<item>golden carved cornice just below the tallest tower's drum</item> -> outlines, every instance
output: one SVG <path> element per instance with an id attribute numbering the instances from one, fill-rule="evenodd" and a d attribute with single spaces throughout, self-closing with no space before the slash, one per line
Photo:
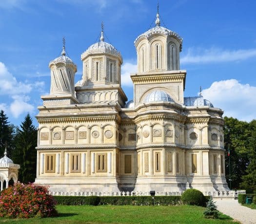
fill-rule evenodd
<path id="1" fill-rule="evenodd" d="M 182 81 L 185 78 L 185 73 L 177 74 L 148 74 L 148 75 L 131 75 L 134 84 L 141 83 L 162 83 L 170 81 Z"/>

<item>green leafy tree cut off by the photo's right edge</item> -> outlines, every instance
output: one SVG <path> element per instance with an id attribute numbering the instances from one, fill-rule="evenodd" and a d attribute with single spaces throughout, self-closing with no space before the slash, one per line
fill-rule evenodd
<path id="1" fill-rule="evenodd" d="M 250 122 L 250 129 L 252 130 L 252 136 L 250 138 L 250 152 L 248 165 L 246 172 L 247 175 L 242 177 L 243 182 L 240 187 L 247 190 L 256 191 L 256 120 Z"/>

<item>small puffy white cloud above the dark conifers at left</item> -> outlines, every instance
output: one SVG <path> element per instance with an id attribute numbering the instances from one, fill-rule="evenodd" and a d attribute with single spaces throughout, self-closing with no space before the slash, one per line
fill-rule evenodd
<path id="1" fill-rule="evenodd" d="M 29 112 L 30 114 L 34 112 L 35 107 L 28 103 L 30 98 L 26 95 L 14 95 L 12 97 L 14 101 L 10 105 L 10 111 L 15 118 L 19 117 L 20 114 L 24 112 Z"/>

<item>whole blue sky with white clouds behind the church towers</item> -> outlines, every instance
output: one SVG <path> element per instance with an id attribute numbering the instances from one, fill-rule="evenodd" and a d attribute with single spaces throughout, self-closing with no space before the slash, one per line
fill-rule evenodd
<path id="1" fill-rule="evenodd" d="M 62 37 L 78 66 L 80 55 L 98 41 L 123 56 L 122 88 L 133 98 L 134 40 L 155 21 L 157 0 L 0 0 L 0 109 L 20 125 L 35 116 L 40 95 L 50 91 L 49 61 L 59 56 Z M 181 69 L 185 96 L 202 93 L 224 115 L 256 118 L 255 0 L 159 0 L 161 25 L 183 37 Z M 37 125 L 36 119 L 34 119 Z"/>

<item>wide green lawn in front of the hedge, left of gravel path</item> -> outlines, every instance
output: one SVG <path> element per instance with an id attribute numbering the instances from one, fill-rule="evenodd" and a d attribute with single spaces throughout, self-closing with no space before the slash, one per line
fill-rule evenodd
<path id="1" fill-rule="evenodd" d="M 0 219 L 5 224 L 238 224 L 229 216 L 220 219 L 203 218 L 204 207 L 133 206 L 133 205 L 57 205 L 58 217 L 33 219 Z"/>

